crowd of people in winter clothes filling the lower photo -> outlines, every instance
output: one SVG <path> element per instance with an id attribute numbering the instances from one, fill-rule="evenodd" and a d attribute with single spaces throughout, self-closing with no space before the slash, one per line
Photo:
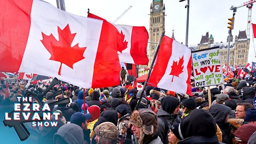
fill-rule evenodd
<path id="1" fill-rule="evenodd" d="M 58 121 L 57 127 L 30 125 L 37 143 L 256 143 L 254 76 L 211 86 L 211 106 L 208 90 L 193 81 L 192 95 L 152 86 L 137 91 L 129 81 L 86 90 L 62 84 L 46 94 L 43 83 L 24 85 L 11 84 L 8 97 L 6 85 L 0 86 L 1 111 L 12 111 L 17 97 L 28 91 L 44 95 L 46 103 L 69 98 L 69 103 L 50 105 L 51 113 L 60 113 L 50 120 Z M 59 89 L 63 94 L 47 99 Z"/>

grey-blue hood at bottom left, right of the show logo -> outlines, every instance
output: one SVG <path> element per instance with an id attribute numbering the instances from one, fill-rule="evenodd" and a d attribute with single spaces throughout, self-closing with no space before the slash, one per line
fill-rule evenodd
<path id="1" fill-rule="evenodd" d="M 76 124 L 65 124 L 60 127 L 53 136 L 53 143 L 56 143 L 57 137 L 65 140 L 68 144 L 83 144 L 84 134 L 80 126 Z"/>

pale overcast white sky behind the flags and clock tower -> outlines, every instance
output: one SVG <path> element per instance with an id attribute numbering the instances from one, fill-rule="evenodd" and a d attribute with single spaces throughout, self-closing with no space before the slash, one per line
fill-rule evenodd
<path id="1" fill-rule="evenodd" d="M 56 6 L 55 0 L 45 0 Z M 195 45 L 201 41 L 202 35 L 209 32 L 212 34 L 215 43 L 227 42 L 228 36 L 228 18 L 233 16 L 233 11 L 229 10 L 231 5 L 239 6 L 249 0 L 190 0 L 189 7 L 189 35 L 188 45 Z M 65 0 L 66 11 L 76 15 L 87 17 L 87 9 L 90 12 L 114 21 L 119 17 L 130 5 L 132 8 L 126 12 L 116 24 L 145 26 L 149 29 L 149 12 L 152 0 Z M 185 43 L 186 37 L 186 20 L 187 9 L 185 5 L 187 1 L 179 2 L 179 0 L 164 0 L 165 4 L 165 35 L 171 37 L 174 29 L 176 41 Z M 256 23 L 256 2 L 252 8 L 252 22 Z M 232 34 L 235 37 L 239 30 L 246 30 L 248 9 L 243 6 L 237 9 L 234 22 L 234 30 Z M 250 34 L 250 57 L 249 61 L 256 62 L 254 58 L 252 30 Z M 256 40 L 255 40 L 256 41 Z M 256 42 L 254 42 L 254 45 Z"/>

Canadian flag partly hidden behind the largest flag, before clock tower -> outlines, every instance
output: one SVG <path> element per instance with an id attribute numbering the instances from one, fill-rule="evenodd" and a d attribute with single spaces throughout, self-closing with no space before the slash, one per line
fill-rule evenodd
<path id="1" fill-rule="evenodd" d="M 88 13 L 87 17 L 105 20 L 92 13 Z M 134 63 L 135 65 L 148 65 L 147 29 L 145 27 L 115 25 L 112 22 L 110 23 L 115 26 L 120 33 L 121 39 L 117 48 L 120 62 Z"/>

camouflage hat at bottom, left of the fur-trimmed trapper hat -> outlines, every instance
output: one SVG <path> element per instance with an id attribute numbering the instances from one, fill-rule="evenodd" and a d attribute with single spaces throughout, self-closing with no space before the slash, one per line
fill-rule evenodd
<path id="1" fill-rule="evenodd" d="M 101 123 L 96 126 L 94 132 L 100 137 L 100 139 L 115 140 L 118 137 L 116 126 L 110 122 Z"/>

